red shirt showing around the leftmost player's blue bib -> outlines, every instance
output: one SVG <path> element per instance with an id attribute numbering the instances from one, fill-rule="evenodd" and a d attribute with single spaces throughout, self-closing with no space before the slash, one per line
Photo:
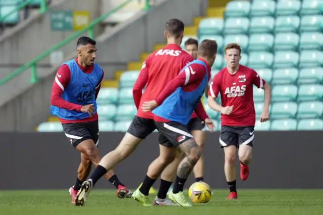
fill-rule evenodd
<path id="1" fill-rule="evenodd" d="M 84 68 L 81 65 L 79 65 L 79 63 L 77 62 L 77 58 L 75 59 L 75 62 L 84 73 L 90 74 L 93 71 L 94 65 Z M 102 77 L 96 86 L 95 99 L 97 97 L 97 94 L 100 91 L 103 76 L 104 76 L 104 72 L 102 70 Z M 61 109 L 80 111 L 80 109 L 82 108 L 82 105 L 68 102 L 61 97 L 64 89 L 69 86 L 70 79 L 71 79 L 70 68 L 64 64 L 57 71 L 55 81 L 52 84 L 50 103 L 51 105 L 57 106 L 58 108 L 61 108 Z M 64 120 L 60 118 L 61 123 L 93 122 L 95 120 L 98 120 L 97 113 L 95 113 L 92 117 L 88 117 L 81 120 Z"/>

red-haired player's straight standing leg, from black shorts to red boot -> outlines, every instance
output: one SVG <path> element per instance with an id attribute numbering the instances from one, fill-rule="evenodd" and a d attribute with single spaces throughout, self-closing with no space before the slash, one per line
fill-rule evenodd
<path id="1" fill-rule="evenodd" d="M 238 144 L 238 134 L 235 129 L 229 126 L 222 126 L 220 133 L 220 145 L 224 149 L 225 163 L 224 172 L 226 175 L 227 183 L 230 189 L 230 194 L 227 199 L 237 198 L 237 188 L 236 188 L 236 148 Z"/>

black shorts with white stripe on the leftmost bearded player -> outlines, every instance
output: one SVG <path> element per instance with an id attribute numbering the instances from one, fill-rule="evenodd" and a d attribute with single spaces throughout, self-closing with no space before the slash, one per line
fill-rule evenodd
<path id="1" fill-rule="evenodd" d="M 96 147 L 99 144 L 99 125 L 98 121 L 84 123 L 64 123 L 63 131 L 73 147 L 84 140 L 93 140 Z"/>

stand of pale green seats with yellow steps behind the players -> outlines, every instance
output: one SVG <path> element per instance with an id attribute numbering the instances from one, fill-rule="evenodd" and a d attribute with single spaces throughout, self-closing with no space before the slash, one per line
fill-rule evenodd
<path id="1" fill-rule="evenodd" d="M 322 130 L 322 6 L 322 0 L 254 0 L 209 7 L 206 17 L 196 17 L 194 26 L 186 27 L 182 45 L 189 37 L 218 41 L 221 49 L 212 76 L 225 67 L 223 47 L 231 42 L 241 45 L 241 64 L 254 68 L 273 88 L 271 121 L 257 122 L 256 130 Z M 155 44 L 154 50 L 163 46 Z M 102 84 L 97 100 L 100 130 L 124 132 L 128 128 L 136 113 L 131 87 L 148 55 L 141 53 L 140 62 L 129 62 L 127 71 L 116 71 L 118 86 L 109 80 Z M 259 118 L 263 90 L 254 87 L 253 91 Z M 219 98 L 217 101 L 221 103 Z M 205 108 L 220 125 L 220 114 L 207 105 Z M 50 117 L 38 126 L 38 131 L 61 131 L 60 123 Z"/>

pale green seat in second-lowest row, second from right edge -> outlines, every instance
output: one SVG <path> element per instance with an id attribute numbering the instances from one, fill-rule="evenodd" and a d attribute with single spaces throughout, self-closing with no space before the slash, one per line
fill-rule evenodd
<path id="1" fill-rule="evenodd" d="M 271 111 L 271 119 L 295 118 L 296 113 L 296 102 L 275 102 Z"/>

